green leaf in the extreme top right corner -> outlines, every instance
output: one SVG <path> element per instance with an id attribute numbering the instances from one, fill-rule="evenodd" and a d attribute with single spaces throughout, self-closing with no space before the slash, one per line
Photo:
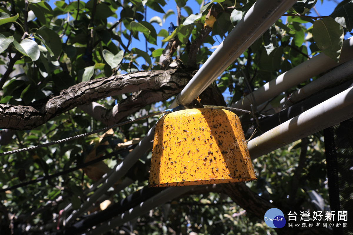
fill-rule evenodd
<path id="1" fill-rule="evenodd" d="M 353 29 L 353 1 L 336 8 L 330 17 L 351 32 Z"/>

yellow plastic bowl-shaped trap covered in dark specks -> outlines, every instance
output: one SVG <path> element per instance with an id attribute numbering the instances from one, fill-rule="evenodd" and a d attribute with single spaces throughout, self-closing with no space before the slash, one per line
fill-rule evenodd
<path id="1" fill-rule="evenodd" d="M 223 109 L 188 109 L 158 120 L 149 177 L 151 186 L 255 179 L 243 129 L 234 113 Z"/>

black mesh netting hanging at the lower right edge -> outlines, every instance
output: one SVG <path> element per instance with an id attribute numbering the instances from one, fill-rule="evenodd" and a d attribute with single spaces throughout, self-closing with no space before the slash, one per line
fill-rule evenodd
<path id="1" fill-rule="evenodd" d="M 348 215 L 347 227 L 334 227 L 333 234 L 353 235 L 353 119 L 325 129 L 324 138 L 331 211 L 335 220 L 338 211 Z"/>

